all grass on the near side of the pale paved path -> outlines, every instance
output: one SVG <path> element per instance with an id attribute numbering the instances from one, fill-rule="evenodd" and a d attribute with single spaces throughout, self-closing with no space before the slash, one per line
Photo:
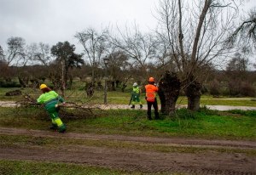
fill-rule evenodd
<path id="1" fill-rule="evenodd" d="M 78 115 L 77 110 L 67 110 Z M 198 112 L 186 109 L 177 110 L 176 116 L 160 115 L 160 120 L 148 121 L 146 110 L 94 110 L 96 116 L 70 119 L 61 116 L 68 132 L 124 134 L 154 137 L 218 138 L 230 140 L 250 140 L 256 138 L 256 110 L 217 111 L 201 108 Z M 154 115 L 153 115 L 154 116 Z M 153 117 L 154 118 L 154 117 Z M 27 108 L 0 107 L 0 127 L 16 127 L 36 130 L 49 130 L 50 119 L 40 106 Z M 76 145 L 88 147 L 108 147 L 108 149 L 159 151 L 163 153 L 189 154 L 244 154 L 256 156 L 255 150 L 229 148 L 197 148 L 165 144 L 128 143 L 125 141 L 94 140 L 87 138 L 48 138 L 31 135 L 0 134 L 1 145 L 25 147 L 26 149 L 58 149 L 77 151 Z M 74 148 L 72 150 L 72 148 Z M 86 151 L 86 150 L 80 150 Z M 0 174 L 143 174 L 119 169 L 93 167 L 73 163 L 11 161 L 0 160 Z M 154 173 L 150 173 L 154 174 Z M 165 174 L 165 173 L 157 173 Z M 179 173 L 173 173 L 179 174 Z"/>

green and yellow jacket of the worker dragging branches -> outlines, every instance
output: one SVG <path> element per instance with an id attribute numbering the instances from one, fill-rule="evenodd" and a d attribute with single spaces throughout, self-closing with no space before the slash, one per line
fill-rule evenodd
<path id="1" fill-rule="evenodd" d="M 55 93 L 55 91 L 49 91 L 49 93 L 43 93 L 38 98 L 38 104 L 44 104 L 45 110 L 49 110 L 50 108 L 55 107 L 55 104 L 59 104 L 59 102 L 64 102 L 64 99 Z"/>

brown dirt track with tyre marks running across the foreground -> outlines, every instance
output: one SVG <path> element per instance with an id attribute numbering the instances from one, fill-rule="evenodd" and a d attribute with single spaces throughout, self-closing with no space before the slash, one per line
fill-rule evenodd
<path id="1" fill-rule="evenodd" d="M 256 150 L 256 142 L 196 138 L 152 138 L 123 135 L 96 135 L 89 133 L 55 133 L 0 127 L 3 135 L 27 135 L 33 137 L 94 139 L 204 149 Z M 189 174 L 256 174 L 256 157 L 243 153 L 173 153 L 145 150 L 124 150 L 108 147 L 72 145 L 63 150 L 6 146 L 0 140 L 0 159 L 24 161 L 68 162 L 100 167 L 113 167 L 141 172 L 183 172 Z"/>

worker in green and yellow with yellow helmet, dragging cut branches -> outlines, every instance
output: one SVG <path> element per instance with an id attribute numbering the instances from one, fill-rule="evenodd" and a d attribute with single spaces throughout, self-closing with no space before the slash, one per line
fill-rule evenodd
<path id="1" fill-rule="evenodd" d="M 64 133 L 67 129 L 58 115 L 58 112 L 60 110 L 59 104 L 64 104 L 64 99 L 58 93 L 55 93 L 55 91 L 47 87 L 45 84 L 41 84 L 39 88 L 43 94 L 40 95 L 40 97 L 38 98 L 38 104 L 44 104 L 45 110 L 48 111 L 48 114 L 52 121 L 52 127 L 49 128 L 57 130 L 59 127 L 59 132 Z"/>

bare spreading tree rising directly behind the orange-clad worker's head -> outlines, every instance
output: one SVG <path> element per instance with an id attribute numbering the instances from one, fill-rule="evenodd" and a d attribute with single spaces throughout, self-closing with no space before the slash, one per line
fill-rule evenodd
<path id="1" fill-rule="evenodd" d="M 156 72 L 147 70 L 147 65 L 150 63 L 157 63 L 156 56 L 159 42 L 154 35 L 150 33 L 142 34 L 137 25 L 131 31 L 125 28 L 125 31 L 120 31 L 117 27 L 119 35 L 113 35 L 109 32 L 108 42 L 114 47 L 119 48 L 124 54 L 131 59 L 132 65 L 138 65 L 139 69 L 143 71 L 144 80 L 149 76 L 155 76 Z M 159 65 L 156 65 L 159 67 Z"/>

